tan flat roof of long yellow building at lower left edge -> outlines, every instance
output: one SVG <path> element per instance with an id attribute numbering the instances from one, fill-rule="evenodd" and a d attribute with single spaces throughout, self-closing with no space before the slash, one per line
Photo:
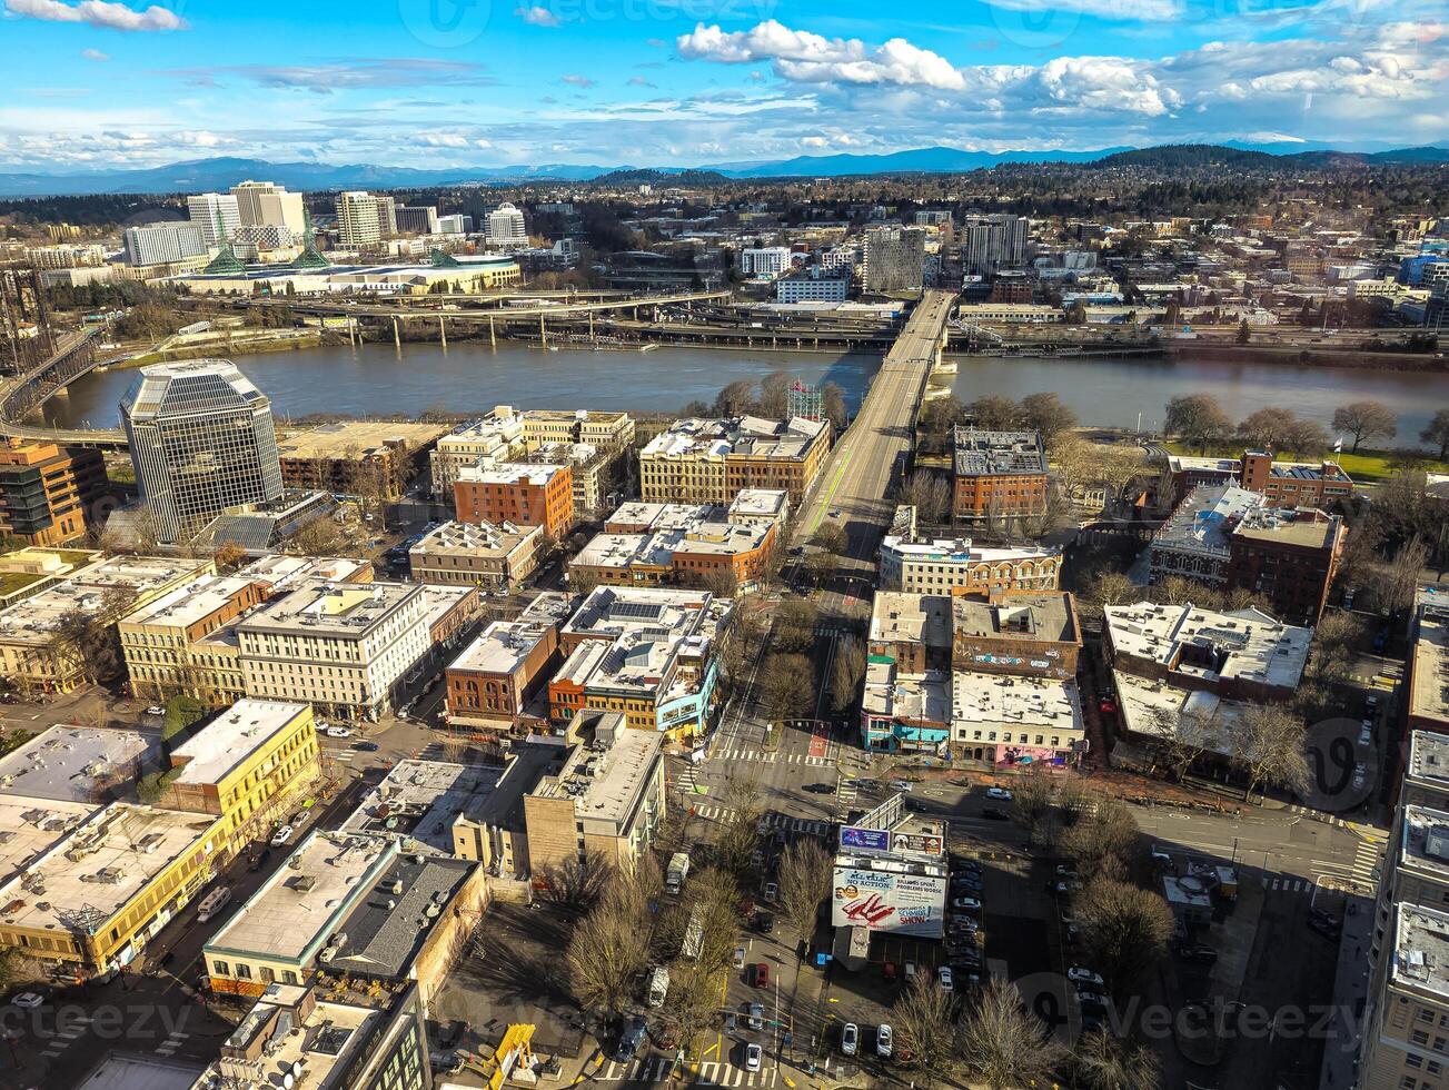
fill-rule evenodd
<path id="1" fill-rule="evenodd" d="M 35 931 L 100 926 L 171 864 L 201 851 L 220 820 L 112 803 L 0 889 L 0 919 Z"/>

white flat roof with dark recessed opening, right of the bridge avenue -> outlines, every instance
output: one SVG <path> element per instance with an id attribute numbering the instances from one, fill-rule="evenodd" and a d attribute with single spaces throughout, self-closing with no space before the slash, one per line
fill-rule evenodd
<path id="1" fill-rule="evenodd" d="M 1256 609 L 1227 613 L 1139 602 L 1103 610 L 1119 654 L 1207 681 L 1253 681 L 1297 688 L 1308 661 L 1311 628 L 1284 625 Z"/>

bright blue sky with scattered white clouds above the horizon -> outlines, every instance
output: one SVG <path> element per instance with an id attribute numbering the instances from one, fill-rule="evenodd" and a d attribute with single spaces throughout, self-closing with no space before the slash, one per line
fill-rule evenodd
<path id="1" fill-rule="evenodd" d="M 1445 0 L 0 0 L 0 164 L 1449 142 Z"/>

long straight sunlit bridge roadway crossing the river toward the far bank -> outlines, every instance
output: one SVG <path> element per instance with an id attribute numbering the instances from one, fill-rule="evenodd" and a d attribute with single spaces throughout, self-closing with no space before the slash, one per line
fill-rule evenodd
<path id="1" fill-rule="evenodd" d="M 927 291 L 916 304 L 796 519 L 797 545 L 806 544 L 822 522 L 845 529 L 849 551 L 842 575 L 868 578 L 874 568 L 881 536 L 895 512 L 885 496 L 893 477 L 910 462 L 916 410 L 945 345 L 953 303 L 951 291 Z"/>

